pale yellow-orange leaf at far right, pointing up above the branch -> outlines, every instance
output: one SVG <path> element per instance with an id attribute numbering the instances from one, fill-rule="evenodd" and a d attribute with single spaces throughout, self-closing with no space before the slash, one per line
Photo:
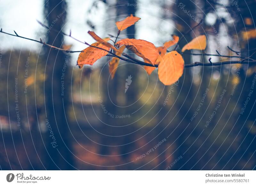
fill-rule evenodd
<path id="1" fill-rule="evenodd" d="M 197 50 L 204 50 L 206 48 L 206 36 L 199 35 L 198 37 L 192 39 L 188 44 L 186 44 L 182 48 L 182 52 L 185 50 L 197 49 Z"/>

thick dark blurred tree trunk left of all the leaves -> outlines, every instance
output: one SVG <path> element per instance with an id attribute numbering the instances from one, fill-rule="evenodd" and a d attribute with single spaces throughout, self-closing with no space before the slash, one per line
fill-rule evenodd
<path id="1" fill-rule="evenodd" d="M 45 16 L 48 25 L 52 29 L 61 30 L 64 26 L 67 14 L 67 4 L 64 0 L 45 1 Z M 56 47 L 62 46 L 63 35 L 50 30 L 46 33 L 47 43 Z M 68 128 L 68 104 L 70 91 L 70 73 L 68 56 L 58 50 L 45 48 L 46 59 L 46 80 L 45 80 L 45 104 L 46 119 L 49 121 L 46 135 L 46 148 L 48 170 L 71 170 L 73 167 L 73 158 L 71 137 Z M 66 68 L 64 67 L 66 65 Z M 65 70 L 63 72 L 63 70 Z M 64 73 L 64 74 L 63 74 Z M 64 83 L 64 92 L 62 86 Z M 47 120 L 44 122 L 47 123 Z M 48 130 L 49 126 L 51 131 Z M 51 136 L 49 136 L 51 135 Z M 55 140 L 54 140 L 55 138 Z"/>

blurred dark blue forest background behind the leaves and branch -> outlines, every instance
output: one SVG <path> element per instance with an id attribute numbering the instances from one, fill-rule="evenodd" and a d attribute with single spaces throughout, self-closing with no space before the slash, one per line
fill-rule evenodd
<path id="1" fill-rule="evenodd" d="M 115 36 L 115 22 L 133 14 L 141 20 L 120 38 L 161 46 L 172 34 L 181 36 L 203 19 L 185 35 L 181 47 L 204 34 L 206 53 L 237 55 L 230 46 L 248 57 L 255 51 L 248 50 L 256 48 L 253 0 L 94 0 L 86 1 L 86 7 L 76 1 L 41 1 L 42 6 L 35 7 L 42 10 L 41 17 L 31 12 L 31 19 L 59 31 L 79 32 L 78 39 L 86 42 L 93 42 L 87 39 L 88 30 Z M 81 16 L 69 8 L 72 4 L 84 10 Z M 1 9 L 8 10 L 4 4 Z M 25 3 L 20 7 L 24 14 L 31 9 Z M 67 26 L 76 21 L 68 17 L 73 14 L 80 17 L 76 27 L 81 29 Z M 18 15 L 14 19 L 23 25 L 22 36 L 41 37 L 56 47 L 72 45 L 71 50 L 87 47 L 37 23 L 37 35 L 29 35 L 27 20 Z M 11 19 L 8 27 L 3 21 L 4 31 L 20 34 Z M 109 57 L 79 69 L 79 53 L 69 55 L 32 41 L 26 48 L 23 39 L 4 34 L 0 41 L 2 170 L 255 169 L 256 66 L 186 68 L 176 84 L 164 86 L 156 71 L 148 76 L 139 65 L 121 61 L 111 80 Z M 185 64 L 209 62 L 209 56 L 183 57 Z M 212 57 L 212 62 L 225 60 L 229 58 Z M 125 92 L 129 75 L 132 83 Z"/>

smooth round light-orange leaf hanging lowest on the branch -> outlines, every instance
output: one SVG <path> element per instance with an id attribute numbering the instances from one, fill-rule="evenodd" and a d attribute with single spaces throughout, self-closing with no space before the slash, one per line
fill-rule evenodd
<path id="1" fill-rule="evenodd" d="M 164 85 L 172 85 L 182 76 L 184 59 L 177 51 L 171 51 L 164 55 L 158 65 L 158 77 Z"/>

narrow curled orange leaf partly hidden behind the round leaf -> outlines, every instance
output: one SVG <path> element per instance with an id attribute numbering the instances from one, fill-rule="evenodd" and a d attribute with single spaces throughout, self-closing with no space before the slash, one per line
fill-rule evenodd
<path id="1" fill-rule="evenodd" d="M 164 46 L 156 48 L 158 50 L 158 57 L 157 57 L 154 65 L 158 65 L 163 60 L 163 57 L 166 54 L 166 50 L 169 47 L 178 43 L 179 36 L 173 35 L 172 37 L 173 37 L 173 40 L 167 41 L 164 43 Z M 152 66 L 144 66 L 144 68 L 145 68 L 146 72 L 148 73 L 148 75 L 150 75 L 156 69 L 156 67 L 152 67 Z"/>

